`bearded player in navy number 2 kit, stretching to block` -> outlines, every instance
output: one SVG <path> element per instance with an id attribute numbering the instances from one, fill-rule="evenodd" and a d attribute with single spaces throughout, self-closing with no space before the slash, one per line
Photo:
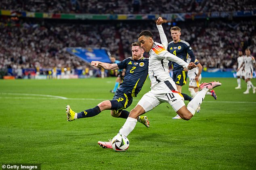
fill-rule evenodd
<path id="1" fill-rule="evenodd" d="M 93 117 L 104 110 L 111 110 L 113 117 L 121 117 L 127 119 L 129 112 L 123 109 L 132 104 L 132 98 L 136 97 L 148 76 L 149 59 L 143 57 L 144 50 L 140 47 L 139 42 L 132 43 L 132 57 L 124 59 L 120 63 L 103 63 L 100 61 L 92 61 L 91 65 L 101 67 L 106 70 L 126 69 L 123 82 L 120 84 L 118 90 L 112 100 L 105 100 L 99 103 L 92 109 L 84 110 L 80 113 L 75 113 L 66 106 L 67 120 L 73 121 L 75 119 Z M 146 116 L 139 117 L 138 121 L 149 127 L 149 121 Z"/>

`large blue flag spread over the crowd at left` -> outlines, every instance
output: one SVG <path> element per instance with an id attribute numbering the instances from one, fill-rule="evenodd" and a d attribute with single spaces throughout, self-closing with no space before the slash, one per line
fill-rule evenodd
<path id="1" fill-rule="evenodd" d="M 109 59 L 109 53 L 106 49 L 69 47 L 66 49 L 66 51 L 72 55 L 80 57 L 88 63 L 91 61 L 111 63 Z"/>

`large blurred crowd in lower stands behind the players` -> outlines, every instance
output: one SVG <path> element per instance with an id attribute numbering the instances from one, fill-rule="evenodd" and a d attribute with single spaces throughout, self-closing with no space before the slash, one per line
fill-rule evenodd
<path id="1" fill-rule="evenodd" d="M 54 23 L 46 20 L 20 20 L 0 24 L 0 69 L 2 68 L 84 68 L 90 64 L 65 51 L 65 47 L 107 47 L 122 60 L 130 57 L 130 44 L 144 29 L 151 30 L 160 42 L 154 21 L 113 22 L 101 24 Z M 189 42 L 204 68 L 235 68 L 238 49 L 249 47 L 256 54 L 256 20 L 197 21 L 176 23 L 181 39 Z M 170 27 L 165 24 L 171 41 Z M 147 55 L 147 54 L 145 54 Z"/>

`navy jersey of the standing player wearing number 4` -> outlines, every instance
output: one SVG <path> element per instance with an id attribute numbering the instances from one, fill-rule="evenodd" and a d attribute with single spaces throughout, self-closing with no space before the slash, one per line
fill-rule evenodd
<path id="1" fill-rule="evenodd" d="M 195 55 L 187 41 L 180 40 L 178 43 L 171 41 L 168 43 L 167 51 L 176 55 L 177 57 L 183 59 L 187 62 L 188 54 L 191 57 L 191 62 L 195 62 Z M 183 66 L 178 65 L 177 63 L 172 63 L 173 71 L 183 70 Z"/>

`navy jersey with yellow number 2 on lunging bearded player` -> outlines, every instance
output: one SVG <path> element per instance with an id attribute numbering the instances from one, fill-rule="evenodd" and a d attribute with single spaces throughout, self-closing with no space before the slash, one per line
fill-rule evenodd
<path id="1" fill-rule="evenodd" d="M 136 97 L 148 76 L 149 59 L 143 57 L 137 61 L 129 57 L 118 63 L 119 69 L 126 69 L 119 90 Z"/>

